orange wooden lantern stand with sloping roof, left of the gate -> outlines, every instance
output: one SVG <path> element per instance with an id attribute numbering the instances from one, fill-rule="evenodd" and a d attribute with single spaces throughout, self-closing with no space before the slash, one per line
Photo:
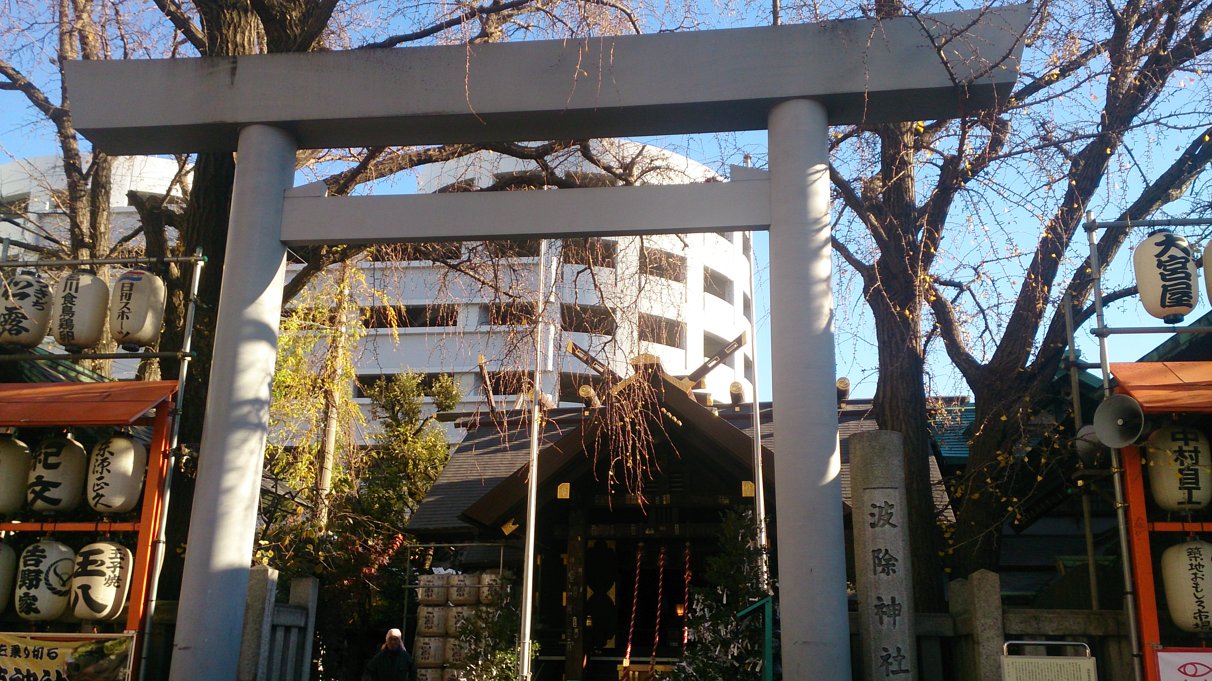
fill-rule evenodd
<path id="1" fill-rule="evenodd" d="M 150 629 L 144 624 L 152 579 L 159 573 L 154 544 L 164 517 L 165 481 L 171 465 L 172 402 L 176 380 L 105 383 L 0 383 L 0 427 L 79 428 L 152 427 L 147 477 L 138 522 L 0 522 L 7 532 L 138 532 L 131 574 L 126 633 L 136 634 L 132 660 L 138 664 Z M 87 493 L 87 491 L 85 491 Z M 162 555 L 162 554 L 161 554 Z M 138 670 L 132 668 L 132 679 Z"/>

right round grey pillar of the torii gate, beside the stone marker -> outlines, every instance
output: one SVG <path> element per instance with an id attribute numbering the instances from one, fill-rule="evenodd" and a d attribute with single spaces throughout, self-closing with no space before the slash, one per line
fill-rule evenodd
<path id="1" fill-rule="evenodd" d="M 837 448 L 828 110 L 789 99 L 768 115 L 770 299 L 783 674 L 850 679 Z M 840 623 L 840 625 L 839 625 Z"/>

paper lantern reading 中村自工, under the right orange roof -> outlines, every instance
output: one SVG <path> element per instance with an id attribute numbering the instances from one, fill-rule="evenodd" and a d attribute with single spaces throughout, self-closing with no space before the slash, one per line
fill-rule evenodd
<path id="1" fill-rule="evenodd" d="M 1149 488 L 1168 511 L 1197 511 L 1212 502 L 1212 450 L 1202 433 L 1185 425 L 1159 428 L 1145 442 Z"/>

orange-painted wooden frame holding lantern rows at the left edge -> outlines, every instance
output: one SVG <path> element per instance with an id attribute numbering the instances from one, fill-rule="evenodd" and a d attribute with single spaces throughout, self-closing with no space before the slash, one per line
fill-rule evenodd
<path id="1" fill-rule="evenodd" d="M 145 382 L 145 383 L 133 383 L 125 385 L 115 385 L 113 383 L 97 383 L 97 384 L 73 384 L 75 390 L 72 390 L 72 395 L 67 394 L 70 387 L 64 387 L 58 383 L 45 384 L 45 390 L 39 388 L 42 384 L 21 384 L 10 385 L 0 384 L 0 395 L 6 390 L 18 394 L 22 399 L 33 395 L 38 395 L 41 399 L 35 399 L 32 401 L 36 402 L 48 402 L 47 405 L 40 405 L 38 410 L 39 414 L 46 414 L 50 412 L 57 413 L 59 416 L 53 417 L 56 420 L 52 423 L 47 420 L 45 416 L 39 418 L 38 423 L 32 424 L 29 418 L 29 402 L 25 402 L 24 408 L 6 408 L 6 404 L 0 399 L 0 425 L 15 425 L 15 427 L 29 427 L 29 425 L 84 425 L 80 420 L 79 412 L 81 407 L 84 411 L 91 412 L 91 418 L 87 419 L 87 425 L 150 425 L 152 427 L 152 443 L 148 447 L 148 468 L 147 477 L 143 483 L 143 508 L 139 513 L 138 522 L 0 522 L 0 530 L 8 532 L 138 532 L 138 539 L 135 546 L 135 566 L 131 574 L 131 589 L 128 595 L 128 607 L 126 611 L 126 633 L 135 633 L 135 649 L 132 654 L 135 656 L 135 665 L 132 666 L 132 674 L 138 671 L 138 660 L 141 658 L 139 649 L 142 648 L 144 641 L 141 634 L 149 634 L 148 631 L 142 631 L 143 616 L 147 613 L 147 597 L 149 579 L 152 577 L 152 549 L 155 544 L 156 538 L 160 536 L 160 517 L 164 510 L 164 497 L 161 494 L 161 488 L 164 486 L 165 476 L 168 474 L 168 439 L 171 436 L 172 429 L 172 412 L 175 404 L 170 400 L 172 394 L 176 393 L 176 382 Z M 76 401 L 80 394 L 96 393 L 102 396 L 107 396 L 102 393 L 109 389 L 110 394 L 137 394 L 137 397 L 122 402 L 124 408 L 110 408 L 105 410 L 93 410 L 96 401 L 84 400 Z M 87 395 L 90 399 L 95 400 L 98 395 Z M 56 397 L 62 396 L 63 402 L 72 402 L 70 407 L 50 410 L 51 405 L 56 404 Z M 116 395 L 115 395 L 116 396 Z M 142 400 L 142 401 L 139 401 Z M 64 405 L 67 406 L 67 405 Z M 147 412 L 155 408 L 155 416 L 147 417 Z M 105 416 L 99 416 L 104 413 Z M 97 419 L 112 419 L 112 423 L 99 423 Z"/>

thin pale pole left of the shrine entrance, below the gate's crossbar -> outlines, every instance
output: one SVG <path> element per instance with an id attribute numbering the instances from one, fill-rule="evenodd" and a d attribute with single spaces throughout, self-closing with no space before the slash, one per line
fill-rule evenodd
<path id="1" fill-rule="evenodd" d="M 554 279 L 554 277 L 553 277 Z M 534 325 L 534 382 L 531 385 L 531 442 L 530 468 L 526 470 L 526 543 L 522 549 L 522 605 L 521 631 L 518 646 L 518 677 L 530 681 L 531 677 L 531 618 L 534 610 L 534 523 L 538 521 L 538 436 L 539 390 L 543 385 L 543 313 L 548 297 L 547 280 L 547 239 L 539 241 L 538 252 L 538 301 L 536 302 L 538 320 Z"/>

